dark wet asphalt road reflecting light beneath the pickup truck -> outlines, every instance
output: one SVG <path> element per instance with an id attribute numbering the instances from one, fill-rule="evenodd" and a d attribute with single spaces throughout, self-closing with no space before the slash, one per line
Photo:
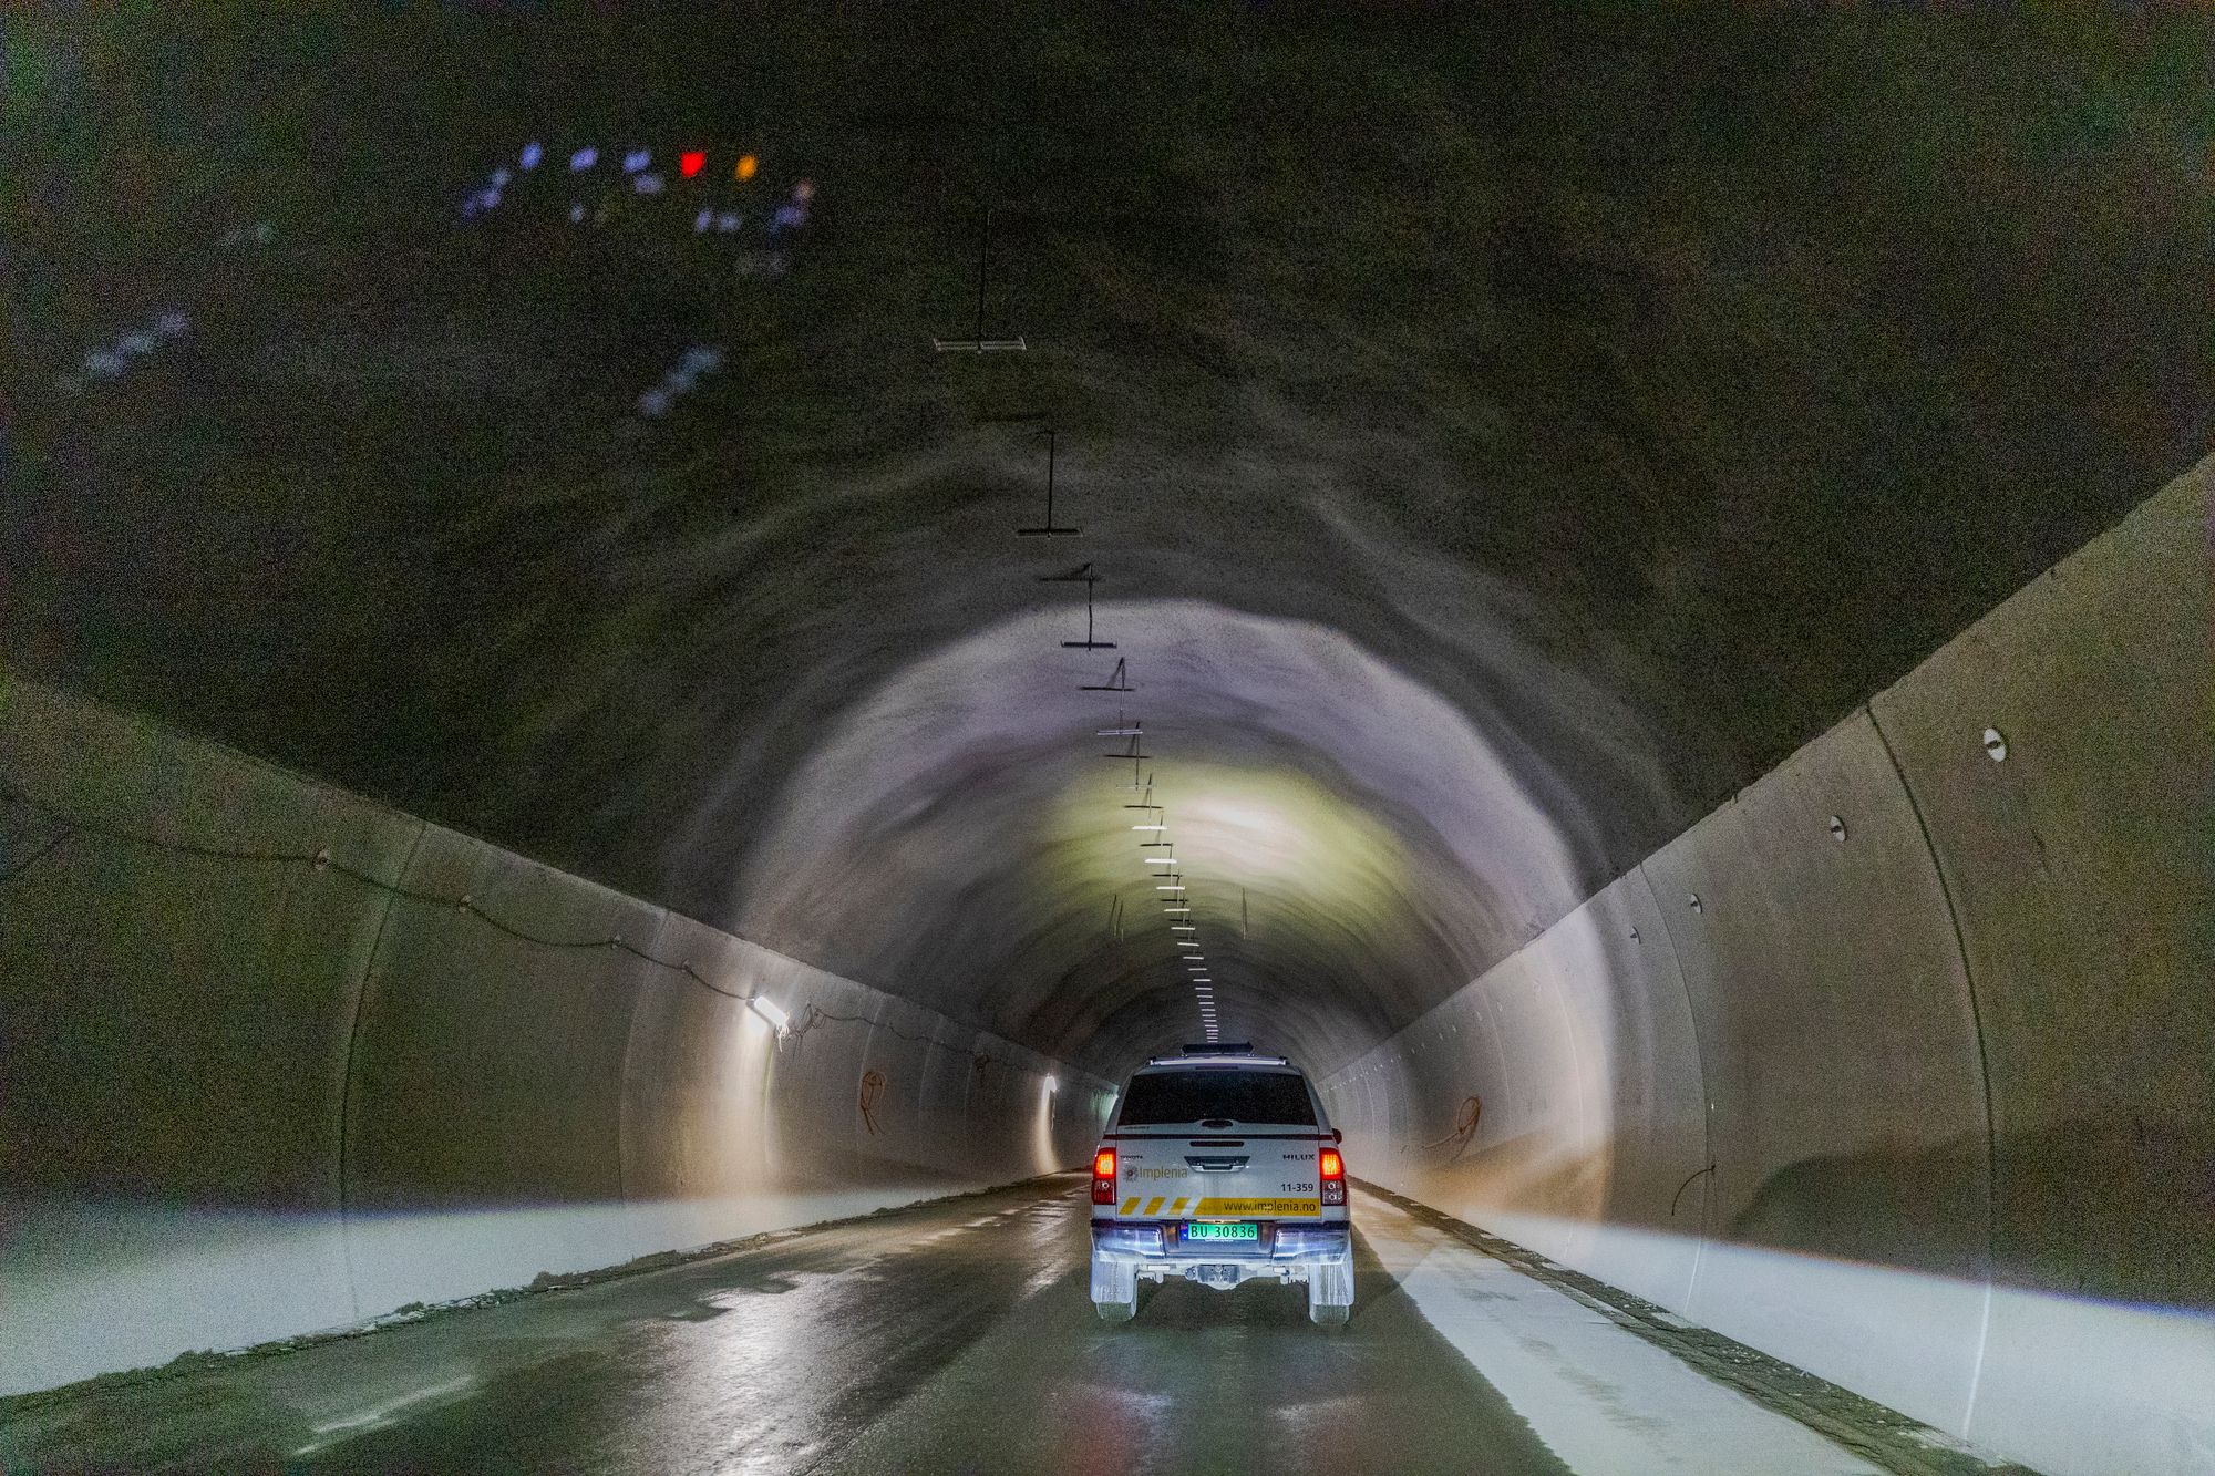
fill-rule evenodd
<path id="1" fill-rule="evenodd" d="M 1088 1301 L 1083 1181 L 0 1412 L 11 1469 L 1559 1472 L 1364 1246 Z"/>

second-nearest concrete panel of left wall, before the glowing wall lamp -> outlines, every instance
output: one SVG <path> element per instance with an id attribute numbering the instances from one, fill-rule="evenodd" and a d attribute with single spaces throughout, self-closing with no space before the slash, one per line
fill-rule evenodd
<path id="1" fill-rule="evenodd" d="M 625 1259 L 620 1090 L 658 909 L 432 827 L 361 1004 L 346 1115 L 365 1312 Z M 505 926 L 494 926 L 498 918 Z M 507 929 L 591 946 L 543 946 Z"/>

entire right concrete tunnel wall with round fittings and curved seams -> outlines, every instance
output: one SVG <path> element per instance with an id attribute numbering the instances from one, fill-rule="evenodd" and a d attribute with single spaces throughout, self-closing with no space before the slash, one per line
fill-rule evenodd
<path id="1" fill-rule="evenodd" d="M 2215 1465 L 2211 483 L 1336 1073 L 1353 1170 L 2040 1469 Z"/>

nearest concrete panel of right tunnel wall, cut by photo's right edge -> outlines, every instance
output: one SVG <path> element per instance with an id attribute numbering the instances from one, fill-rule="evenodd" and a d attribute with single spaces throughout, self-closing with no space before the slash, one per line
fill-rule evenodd
<path id="1" fill-rule="evenodd" d="M 1991 1070 L 2000 1292 L 1969 1434 L 2056 1469 L 2215 1463 L 2208 485 L 2180 479 L 1872 705 Z M 2155 1328 L 2133 1303 L 2202 1319 Z M 2111 1398 L 2056 1398 L 2082 1363 L 2115 1370 Z M 2195 1414 L 2157 1394 L 2180 1378 Z"/>

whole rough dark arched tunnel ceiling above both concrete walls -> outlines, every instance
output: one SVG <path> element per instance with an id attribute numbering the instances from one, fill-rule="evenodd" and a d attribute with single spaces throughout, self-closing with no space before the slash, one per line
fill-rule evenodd
<path id="1" fill-rule="evenodd" d="M 2206 439 L 2193 18 L 9 47 L 22 669 L 1103 1070 L 1194 1031 L 1123 804 L 1170 811 L 1227 1031 L 1329 1066 Z M 571 226 L 583 144 L 602 191 L 751 151 L 733 208 L 804 177 L 806 228 L 696 233 L 676 175 Z M 1030 348 L 937 355 L 986 204 Z M 1045 426 L 1081 539 L 1012 536 Z M 1085 585 L 1041 576 L 1085 565 L 1114 652 L 1061 645 Z"/>

